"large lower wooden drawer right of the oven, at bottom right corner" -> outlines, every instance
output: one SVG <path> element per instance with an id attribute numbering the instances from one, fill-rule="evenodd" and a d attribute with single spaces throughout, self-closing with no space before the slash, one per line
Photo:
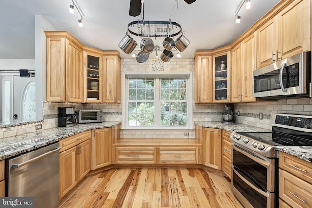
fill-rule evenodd
<path id="1" fill-rule="evenodd" d="M 279 169 L 279 197 L 293 208 L 311 208 L 312 184 Z"/>

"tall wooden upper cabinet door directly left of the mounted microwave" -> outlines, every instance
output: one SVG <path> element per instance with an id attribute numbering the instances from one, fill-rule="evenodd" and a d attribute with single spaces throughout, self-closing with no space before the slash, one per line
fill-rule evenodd
<path id="1" fill-rule="evenodd" d="M 253 71 L 257 69 L 257 39 L 256 32 L 242 42 L 242 96 L 241 102 L 254 102 Z"/>

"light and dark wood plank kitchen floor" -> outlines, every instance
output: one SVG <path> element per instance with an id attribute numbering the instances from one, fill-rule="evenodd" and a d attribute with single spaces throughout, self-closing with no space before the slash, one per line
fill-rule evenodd
<path id="1" fill-rule="evenodd" d="M 243 208 L 228 178 L 201 168 L 114 168 L 85 177 L 58 208 Z"/>

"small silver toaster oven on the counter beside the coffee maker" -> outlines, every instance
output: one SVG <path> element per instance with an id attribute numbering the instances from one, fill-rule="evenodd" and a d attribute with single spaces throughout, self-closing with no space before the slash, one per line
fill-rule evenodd
<path id="1" fill-rule="evenodd" d="M 77 122 L 79 124 L 103 122 L 102 110 L 97 109 L 77 110 L 75 114 L 77 116 Z"/>

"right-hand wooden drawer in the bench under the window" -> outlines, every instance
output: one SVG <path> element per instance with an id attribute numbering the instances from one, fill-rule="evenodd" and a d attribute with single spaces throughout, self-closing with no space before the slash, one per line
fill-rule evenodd
<path id="1" fill-rule="evenodd" d="M 196 164 L 196 147 L 194 148 L 160 148 L 161 164 Z"/>

